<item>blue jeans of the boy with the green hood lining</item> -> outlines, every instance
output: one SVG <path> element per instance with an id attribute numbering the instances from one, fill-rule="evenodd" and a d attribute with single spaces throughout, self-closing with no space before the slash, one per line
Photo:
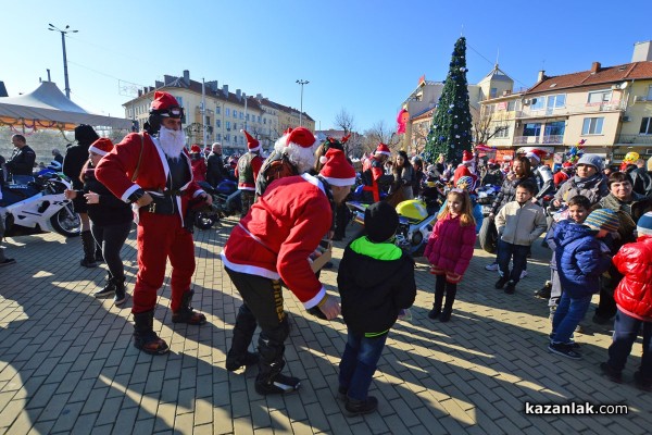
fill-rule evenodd
<path id="1" fill-rule="evenodd" d="M 340 361 L 339 384 L 351 399 L 366 400 L 376 364 L 385 348 L 387 334 L 365 337 L 349 331 L 344 355 Z"/>

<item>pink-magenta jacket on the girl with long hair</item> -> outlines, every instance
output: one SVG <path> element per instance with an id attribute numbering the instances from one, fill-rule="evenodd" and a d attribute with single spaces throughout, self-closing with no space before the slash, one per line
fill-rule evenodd
<path id="1" fill-rule="evenodd" d="M 432 265 L 463 275 L 473 257 L 475 241 L 475 225 L 461 226 L 459 216 L 449 215 L 435 224 L 424 257 Z"/>

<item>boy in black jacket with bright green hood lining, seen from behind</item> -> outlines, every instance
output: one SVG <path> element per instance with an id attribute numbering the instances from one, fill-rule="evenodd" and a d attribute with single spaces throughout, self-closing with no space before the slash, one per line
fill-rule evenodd
<path id="1" fill-rule="evenodd" d="M 393 244 L 397 211 L 376 202 L 366 209 L 364 226 L 366 236 L 347 246 L 337 275 L 348 330 L 338 397 L 350 417 L 377 409 L 378 399 L 367 395 L 376 364 L 399 312 L 416 297 L 414 260 Z"/>

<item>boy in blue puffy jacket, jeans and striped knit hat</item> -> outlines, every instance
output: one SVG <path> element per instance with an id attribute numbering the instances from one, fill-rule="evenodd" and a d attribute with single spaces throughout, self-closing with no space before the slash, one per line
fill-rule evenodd
<path id="1" fill-rule="evenodd" d="M 600 290 L 600 275 L 611 265 L 610 248 L 600 239 L 618 226 L 618 215 L 610 209 L 594 210 L 584 224 L 572 220 L 557 224 L 554 244 L 563 293 L 552 319 L 551 352 L 581 359 L 570 336 L 589 310 L 592 295 Z"/>

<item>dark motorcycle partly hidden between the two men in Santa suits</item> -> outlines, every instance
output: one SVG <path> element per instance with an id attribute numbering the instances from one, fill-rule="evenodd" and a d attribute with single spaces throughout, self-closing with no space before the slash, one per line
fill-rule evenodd
<path id="1" fill-rule="evenodd" d="M 222 217 L 233 216 L 242 211 L 238 183 L 225 179 L 213 187 L 206 182 L 199 182 L 199 186 L 213 197 L 213 207 L 196 213 L 195 226 L 198 228 L 209 229 Z"/>

